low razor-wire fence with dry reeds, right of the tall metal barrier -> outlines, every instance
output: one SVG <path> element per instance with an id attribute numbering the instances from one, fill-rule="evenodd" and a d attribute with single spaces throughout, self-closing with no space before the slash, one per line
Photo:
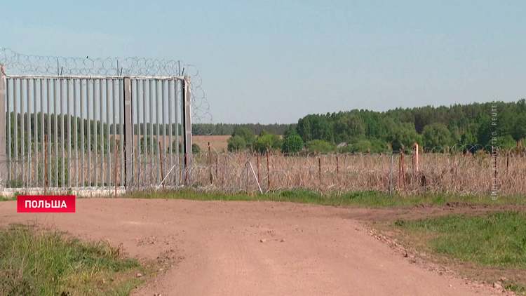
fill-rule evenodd
<path id="1" fill-rule="evenodd" d="M 194 155 L 195 187 L 210 191 L 282 191 L 321 193 L 383 191 L 421 194 L 499 194 L 526 192 L 524 153 L 252 154 L 203 152 Z M 494 166 L 496 170 L 494 170 Z"/>

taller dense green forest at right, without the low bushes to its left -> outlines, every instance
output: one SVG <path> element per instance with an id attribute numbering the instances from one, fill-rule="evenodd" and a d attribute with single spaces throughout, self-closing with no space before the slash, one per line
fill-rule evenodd
<path id="1" fill-rule="evenodd" d="M 494 125 L 492 119 L 496 119 Z M 492 135 L 497 146 L 512 148 L 526 137 L 526 102 L 309 115 L 299 119 L 296 131 L 304 142 L 349 142 L 376 151 L 386 149 L 387 144 L 393 150 L 407 149 L 415 142 L 425 148 L 455 144 L 487 147 Z"/>

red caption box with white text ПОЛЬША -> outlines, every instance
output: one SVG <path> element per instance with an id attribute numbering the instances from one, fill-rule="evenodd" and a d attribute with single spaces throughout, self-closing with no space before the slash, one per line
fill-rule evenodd
<path id="1" fill-rule="evenodd" d="M 19 195 L 18 213 L 75 213 L 74 195 Z"/>

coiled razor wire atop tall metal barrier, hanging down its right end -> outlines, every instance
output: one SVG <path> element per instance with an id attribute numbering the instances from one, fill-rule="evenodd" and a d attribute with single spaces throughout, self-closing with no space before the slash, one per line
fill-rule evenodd
<path id="1" fill-rule="evenodd" d="M 192 123 L 212 123 L 210 104 L 197 67 L 181 60 L 152 58 L 71 58 L 27 55 L 0 47 L 0 64 L 10 75 L 43 76 L 189 76 Z M 202 131 L 195 135 L 210 135 Z"/>

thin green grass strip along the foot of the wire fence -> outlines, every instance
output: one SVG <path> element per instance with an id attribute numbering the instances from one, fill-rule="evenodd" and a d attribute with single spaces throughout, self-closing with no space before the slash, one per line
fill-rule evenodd
<path id="1" fill-rule="evenodd" d="M 137 191 L 126 194 L 135 199 L 190 199 L 196 201 L 287 201 L 294 203 L 314 203 L 324 206 L 357 206 L 371 208 L 387 208 L 393 206 L 413 206 L 422 203 L 444 205 L 448 202 L 464 202 L 476 204 L 514 204 L 525 205 L 526 199 L 515 196 L 501 196 L 492 200 L 490 195 L 455 194 L 388 194 L 379 191 L 355 191 L 342 194 L 320 194 L 316 191 L 303 189 L 272 192 L 268 194 L 227 194 L 222 192 L 202 192 L 194 189 L 179 191 Z"/>

